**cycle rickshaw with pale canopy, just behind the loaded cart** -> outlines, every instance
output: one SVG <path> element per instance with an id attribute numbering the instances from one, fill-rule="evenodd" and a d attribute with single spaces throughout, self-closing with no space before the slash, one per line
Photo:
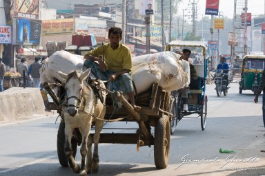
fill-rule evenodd
<path id="1" fill-rule="evenodd" d="M 183 104 L 178 92 L 173 91 L 171 98 L 173 98 L 172 113 L 173 120 L 171 120 L 171 134 L 174 133 L 177 123 L 182 118 L 195 114 L 195 118 L 201 118 L 202 130 L 206 128 L 207 118 L 207 96 L 206 96 L 206 78 L 207 78 L 207 65 L 208 65 L 208 44 L 204 41 L 171 41 L 166 45 L 166 51 L 182 50 L 188 48 L 193 52 L 201 54 L 202 61 L 199 64 L 194 64 L 194 67 L 199 78 L 198 88 L 189 89 L 188 94 L 188 111 L 183 111 Z"/>

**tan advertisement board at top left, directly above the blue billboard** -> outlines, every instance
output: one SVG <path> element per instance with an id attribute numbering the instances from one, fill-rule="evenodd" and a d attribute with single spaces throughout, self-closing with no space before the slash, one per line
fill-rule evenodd
<path id="1" fill-rule="evenodd" d="M 39 19 L 39 0 L 14 0 L 14 17 Z"/>

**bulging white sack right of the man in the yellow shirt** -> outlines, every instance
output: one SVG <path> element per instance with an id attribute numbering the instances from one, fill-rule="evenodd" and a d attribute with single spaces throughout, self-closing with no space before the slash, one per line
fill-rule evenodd
<path id="1" fill-rule="evenodd" d="M 181 69 L 180 56 L 174 52 L 159 52 L 133 57 L 132 76 L 137 93 L 145 91 L 153 83 L 158 83 L 166 91 L 183 87 L 188 76 Z"/>

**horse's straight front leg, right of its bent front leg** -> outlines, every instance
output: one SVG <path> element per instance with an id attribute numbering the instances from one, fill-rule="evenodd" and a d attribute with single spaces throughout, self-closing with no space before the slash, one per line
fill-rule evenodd
<path id="1" fill-rule="evenodd" d="M 81 153 L 81 170 L 79 175 L 87 175 L 87 171 L 86 170 L 86 155 L 88 153 L 88 135 L 90 133 L 90 129 L 91 129 L 91 122 L 86 123 L 85 126 L 83 126 L 82 129 L 79 129 L 81 131 L 82 134 L 82 144 L 80 147 L 80 153 Z"/>

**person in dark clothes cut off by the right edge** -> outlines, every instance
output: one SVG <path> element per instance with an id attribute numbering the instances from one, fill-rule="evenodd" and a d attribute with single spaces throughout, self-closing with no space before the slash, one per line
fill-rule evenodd
<path id="1" fill-rule="evenodd" d="M 263 116 L 263 124 L 265 127 L 265 69 L 262 72 L 262 78 L 261 81 L 259 83 L 259 88 L 257 89 L 257 94 L 254 98 L 254 102 L 257 103 L 259 102 L 259 95 L 262 93 L 263 91 L 263 95 L 262 95 L 262 116 Z M 265 133 L 263 134 L 265 136 Z"/>

